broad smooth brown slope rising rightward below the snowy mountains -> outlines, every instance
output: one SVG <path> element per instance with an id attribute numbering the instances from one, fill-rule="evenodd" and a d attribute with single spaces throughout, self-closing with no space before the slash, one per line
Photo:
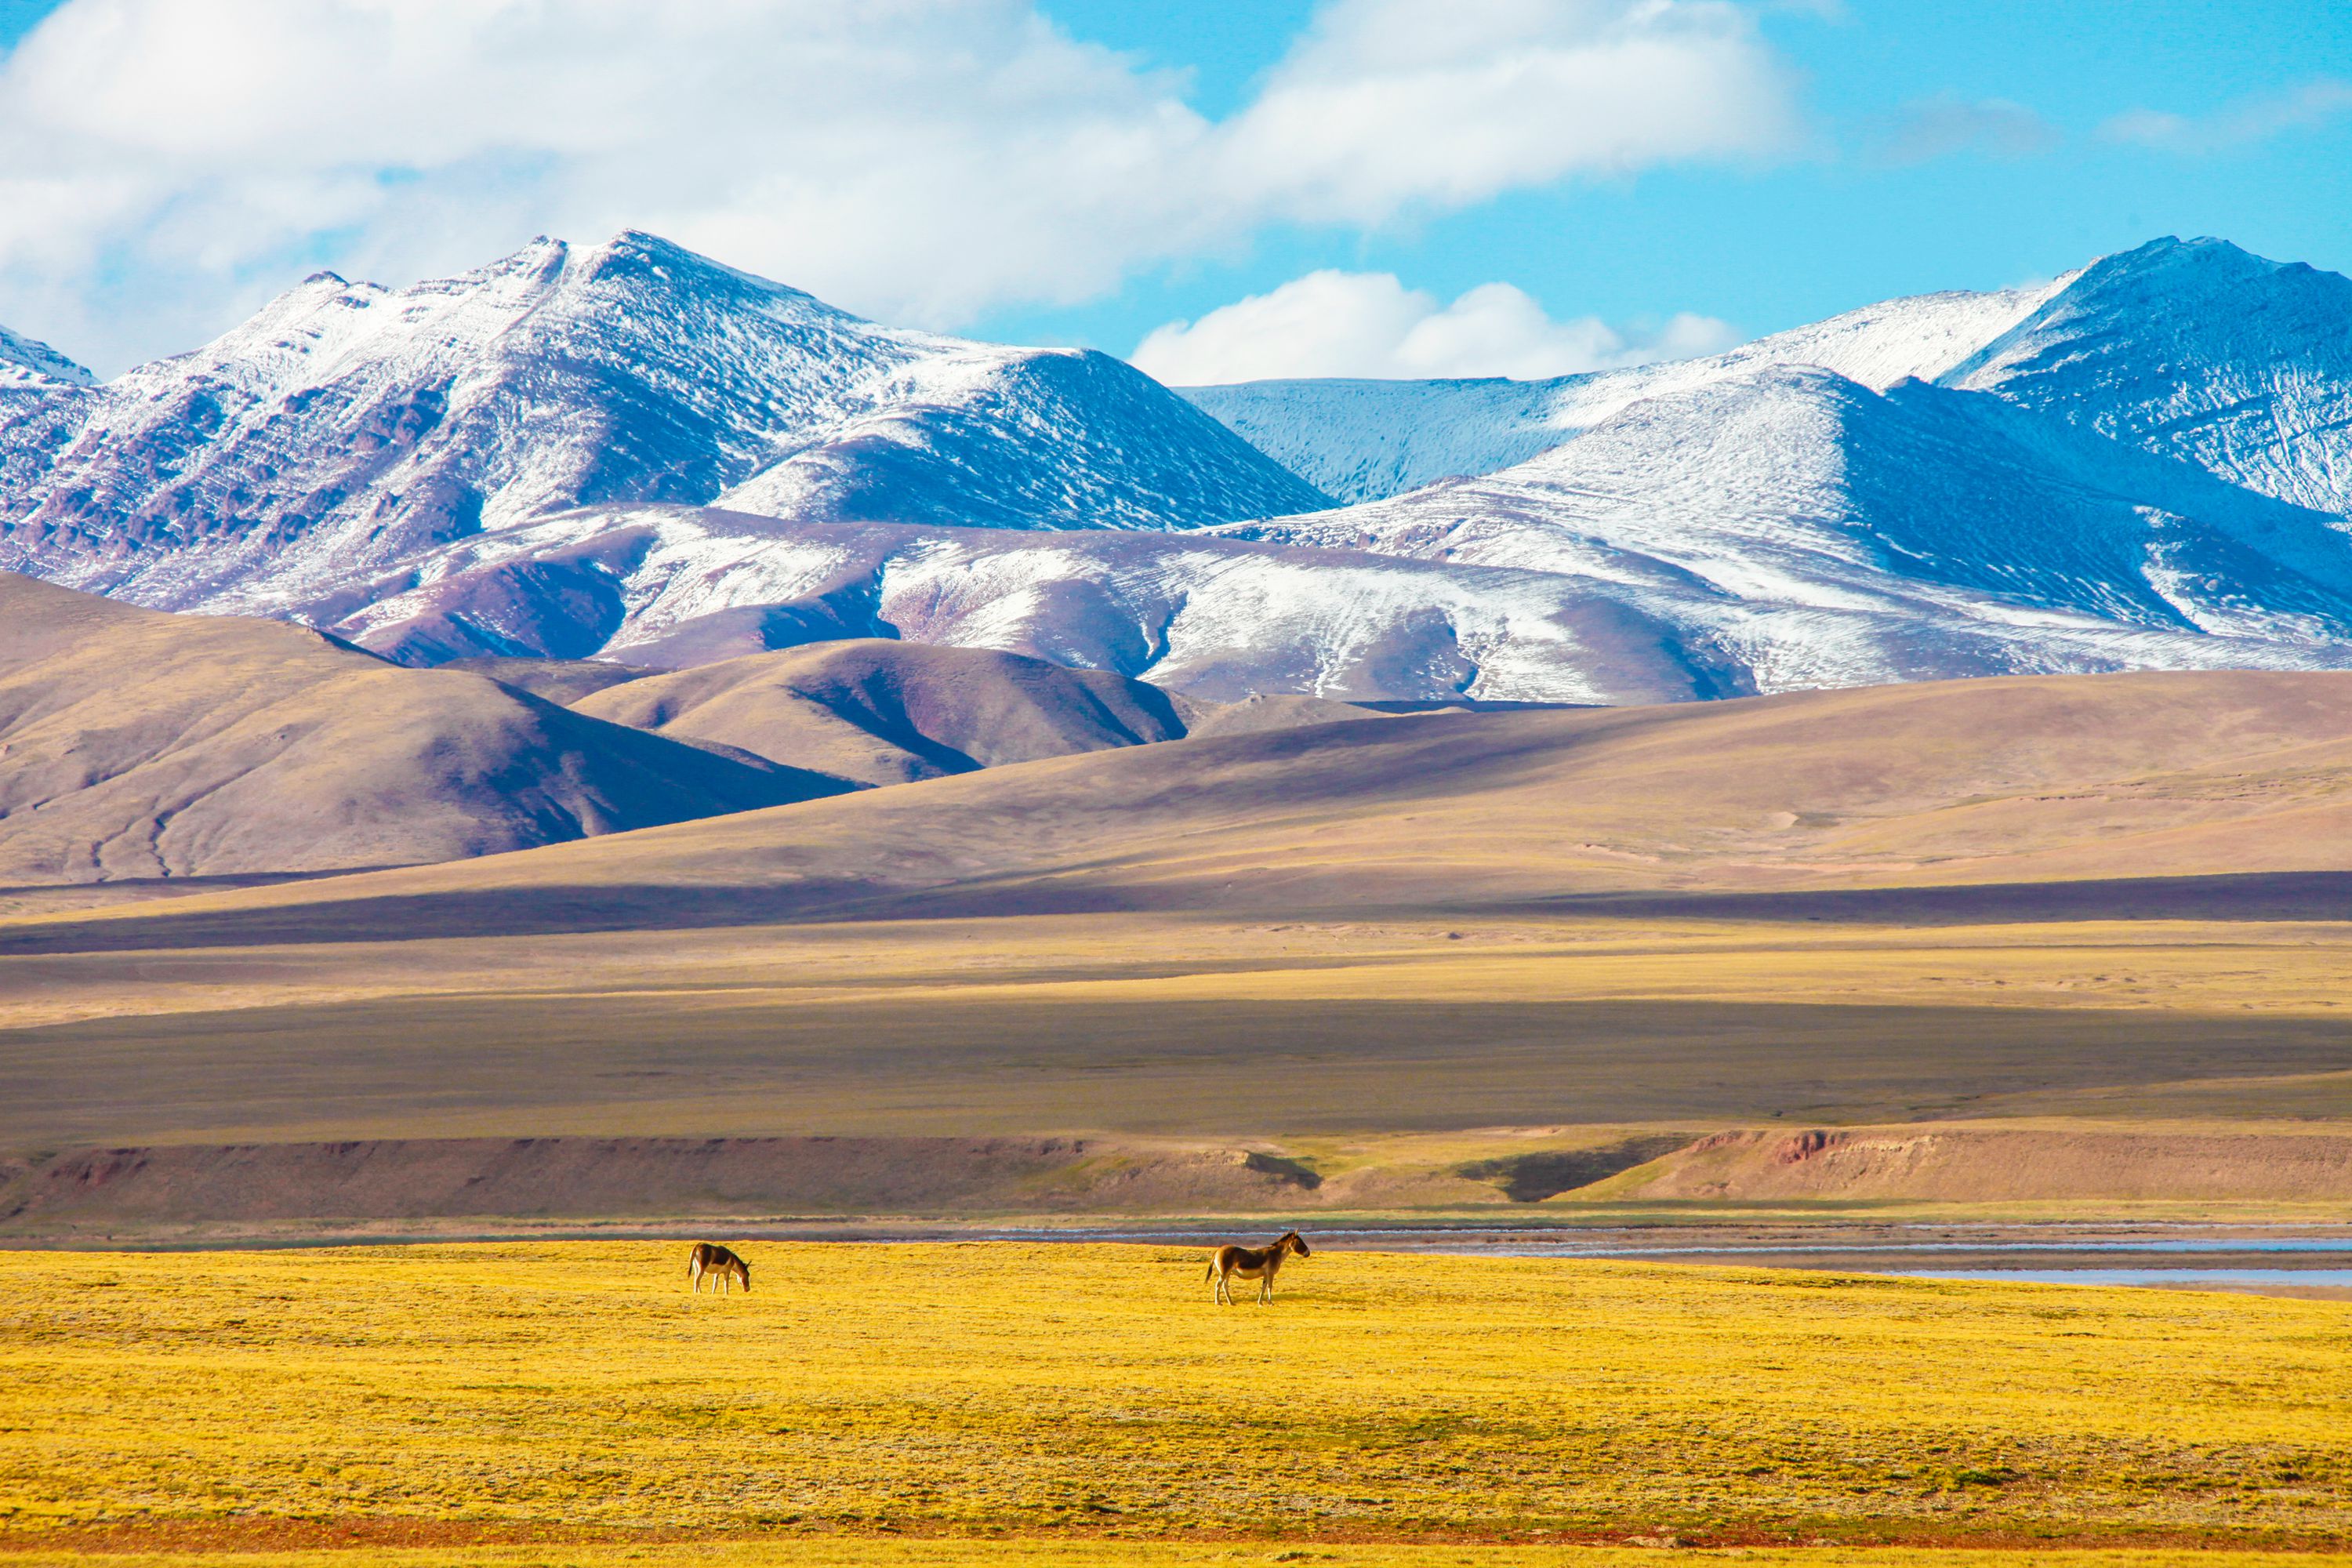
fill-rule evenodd
<path id="1" fill-rule="evenodd" d="M 564 929 L 2244 877 L 2352 870 L 2347 827 L 2352 675 L 2018 677 L 1178 741 L 153 919 L 334 903 L 360 933 L 468 910 Z"/>

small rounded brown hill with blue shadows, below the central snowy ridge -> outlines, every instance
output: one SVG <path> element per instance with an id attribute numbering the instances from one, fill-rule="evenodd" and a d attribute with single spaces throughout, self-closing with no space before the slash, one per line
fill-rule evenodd
<path id="1" fill-rule="evenodd" d="M 1185 733 L 1164 691 L 1110 670 L 880 637 L 649 675 L 574 705 L 875 785 Z"/>

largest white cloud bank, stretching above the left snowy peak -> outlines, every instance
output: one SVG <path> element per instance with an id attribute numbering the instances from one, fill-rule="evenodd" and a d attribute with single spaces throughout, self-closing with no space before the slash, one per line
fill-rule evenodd
<path id="1" fill-rule="evenodd" d="M 68 0 L 0 61 L 0 320 L 111 367 L 637 226 L 950 327 L 1795 118 L 1717 0 L 1329 0 L 1225 120 L 1028 0 Z"/>

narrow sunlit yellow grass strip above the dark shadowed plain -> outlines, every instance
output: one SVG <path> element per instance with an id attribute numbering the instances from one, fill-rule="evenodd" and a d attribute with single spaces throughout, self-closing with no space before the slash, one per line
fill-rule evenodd
<path id="1" fill-rule="evenodd" d="M 677 1006 L 1486 997 L 2345 1011 L 2352 924 L 1009 917 L 0 957 L 0 1027 L 485 992 Z"/>

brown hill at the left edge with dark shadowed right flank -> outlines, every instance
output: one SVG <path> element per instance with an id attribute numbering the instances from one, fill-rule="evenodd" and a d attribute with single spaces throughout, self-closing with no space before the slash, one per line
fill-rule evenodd
<path id="1" fill-rule="evenodd" d="M 296 625 L 0 576 L 0 884 L 412 865 L 844 788 Z"/>

